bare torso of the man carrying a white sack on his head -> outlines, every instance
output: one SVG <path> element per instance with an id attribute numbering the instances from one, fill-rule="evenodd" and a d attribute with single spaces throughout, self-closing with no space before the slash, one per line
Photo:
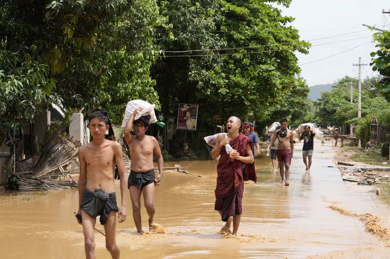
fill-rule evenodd
<path id="1" fill-rule="evenodd" d="M 153 164 L 154 137 L 145 135 L 142 140 L 132 136 L 129 144 L 131 156 L 131 170 L 134 172 L 148 172 L 155 168 Z"/>

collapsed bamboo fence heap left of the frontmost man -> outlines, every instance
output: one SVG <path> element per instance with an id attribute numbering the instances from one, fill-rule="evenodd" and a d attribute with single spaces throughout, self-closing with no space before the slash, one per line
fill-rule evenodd
<path id="1" fill-rule="evenodd" d="M 63 190 L 77 188 L 71 173 L 78 173 L 79 141 L 65 135 L 61 129 L 47 130 L 37 163 L 31 171 L 15 173 L 19 190 Z M 77 168 L 68 170 L 75 162 Z"/>

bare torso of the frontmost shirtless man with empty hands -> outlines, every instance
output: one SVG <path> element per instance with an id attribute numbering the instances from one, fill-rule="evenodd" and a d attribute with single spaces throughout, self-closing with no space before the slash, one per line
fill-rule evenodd
<path id="1" fill-rule="evenodd" d="M 91 191 L 98 188 L 108 193 L 115 191 L 115 158 L 113 145 L 117 144 L 117 142 L 108 141 L 102 147 L 96 147 L 92 143 L 88 143 L 79 149 L 79 152 L 83 153 L 86 163 L 87 184 L 85 187 Z"/>

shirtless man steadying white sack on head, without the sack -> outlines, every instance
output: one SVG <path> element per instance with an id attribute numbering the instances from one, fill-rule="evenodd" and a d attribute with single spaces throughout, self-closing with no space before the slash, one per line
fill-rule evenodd
<path id="1" fill-rule="evenodd" d="M 143 233 L 141 224 L 141 194 L 143 194 L 144 204 L 149 215 L 149 231 L 154 231 L 159 226 L 154 222 L 156 211 L 154 196 L 155 185 L 160 184 L 164 166 L 161 150 L 156 138 L 145 135 L 150 124 L 150 115 L 141 116 L 138 120 L 134 121 L 134 117 L 141 110 L 142 108 L 139 107 L 134 111 L 124 130 L 125 140 L 129 145 L 131 156 L 131 172 L 127 186 L 130 190 L 133 218 L 139 234 Z M 130 134 L 133 121 L 136 136 Z M 156 178 L 153 154 L 156 155 L 159 172 Z"/>

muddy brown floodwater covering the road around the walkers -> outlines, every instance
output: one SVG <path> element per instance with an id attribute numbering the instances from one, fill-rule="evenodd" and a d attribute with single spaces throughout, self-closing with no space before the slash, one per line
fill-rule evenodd
<path id="1" fill-rule="evenodd" d="M 181 164 L 182 169 L 203 177 L 164 174 L 156 188 L 155 220 L 166 234 L 136 234 L 127 195 L 127 220 L 117 224 L 121 257 L 305 258 L 329 254 L 333 258 L 378 258 L 374 256 L 377 251 L 388 254 L 389 248 L 379 237 L 365 231 L 363 221 L 329 207 L 357 214 L 388 212 L 376 201 L 372 187 L 341 180 L 331 145 L 315 143 L 312 172 L 305 173 L 302 144 L 298 143 L 289 187 L 279 184 L 279 173 L 271 171 L 269 157 L 256 157 L 258 182 L 244 186 L 238 238 L 218 234 L 223 223 L 214 210 L 216 161 L 165 163 L 166 167 Z M 120 204 L 118 181 L 116 190 Z M 78 208 L 77 190 L 49 191 L 37 200 L 4 203 L 9 195 L 0 196 L 1 258 L 84 258 L 82 228 L 73 216 Z M 146 231 L 147 214 L 141 209 Z M 96 227 L 103 230 L 100 224 Z M 95 238 L 97 257 L 110 258 L 104 237 L 96 232 Z"/>

